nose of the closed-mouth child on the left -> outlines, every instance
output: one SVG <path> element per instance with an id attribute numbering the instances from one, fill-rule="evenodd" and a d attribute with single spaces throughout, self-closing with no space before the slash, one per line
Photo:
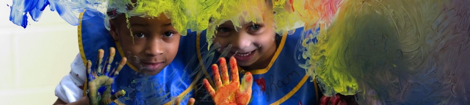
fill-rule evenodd
<path id="1" fill-rule="evenodd" d="M 164 43 L 162 41 L 152 41 L 147 43 L 145 54 L 149 56 L 158 56 L 164 53 Z"/>

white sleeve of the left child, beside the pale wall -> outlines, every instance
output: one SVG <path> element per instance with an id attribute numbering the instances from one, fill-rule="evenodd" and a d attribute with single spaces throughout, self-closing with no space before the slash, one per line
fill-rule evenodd
<path id="1" fill-rule="evenodd" d="M 55 87 L 55 96 L 65 103 L 75 102 L 83 97 L 83 85 L 86 80 L 86 67 L 80 53 L 70 65 L 71 70 Z"/>

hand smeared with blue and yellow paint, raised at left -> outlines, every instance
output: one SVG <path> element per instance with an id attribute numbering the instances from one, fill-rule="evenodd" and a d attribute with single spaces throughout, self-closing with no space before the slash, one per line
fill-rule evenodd
<path id="1" fill-rule="evenodd" d="M 112 86 L 114 79 L 118 77 L 119 71 L 123 68 L 127 59 L 122 58 L 121 62 L 117 68 L 110 70 L 111 63 L 113 62 L 114 55 L 116 54 L 116 49 L 110 48 L 110 56 L 105 62 L 105 67 L 102 68 L 102 61 L 104 50 L 98 50 L 98 60 L 96 61 L 96 66 L 94 70 L 91 69 L 91 61 L 88 60 L 86 63 L 86 75 L 87 75 L 87 95 L 90 101 L 90 105 L 109 105 L 115 99 L 123 96 L 125 94 L 124 90 L 117 91 L 114 95 L 111 95 Z M 105 87 L 106 90 L 101 93 L 101 96 L 98 94 L 98 90 L 101 87 Z"/>

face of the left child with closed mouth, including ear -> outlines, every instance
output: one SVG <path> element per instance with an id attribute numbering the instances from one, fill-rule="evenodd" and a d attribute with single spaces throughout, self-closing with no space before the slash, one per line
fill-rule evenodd
<path id="1" fill-rule="evenodd" d="M 163 14 L 155 19 L 133 16 L 129 22 L 134 39 L 124 16 L 110 21 L 110 34 L 120 42 L 128 61 L 141 73 L 157 75 L 173 61 L 181 35 Z"/>

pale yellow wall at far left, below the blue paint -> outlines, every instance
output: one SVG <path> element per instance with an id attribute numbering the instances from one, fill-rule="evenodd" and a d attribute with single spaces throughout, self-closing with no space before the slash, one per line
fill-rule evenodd
<path id="1" fill-rule="evenodd" d="M 11 2 L 0 6 L 0 105 L 52 105 L 55 86 L 78 54 L 77 26 L 46 7 L 24 29 L 8 19 Z"/>

